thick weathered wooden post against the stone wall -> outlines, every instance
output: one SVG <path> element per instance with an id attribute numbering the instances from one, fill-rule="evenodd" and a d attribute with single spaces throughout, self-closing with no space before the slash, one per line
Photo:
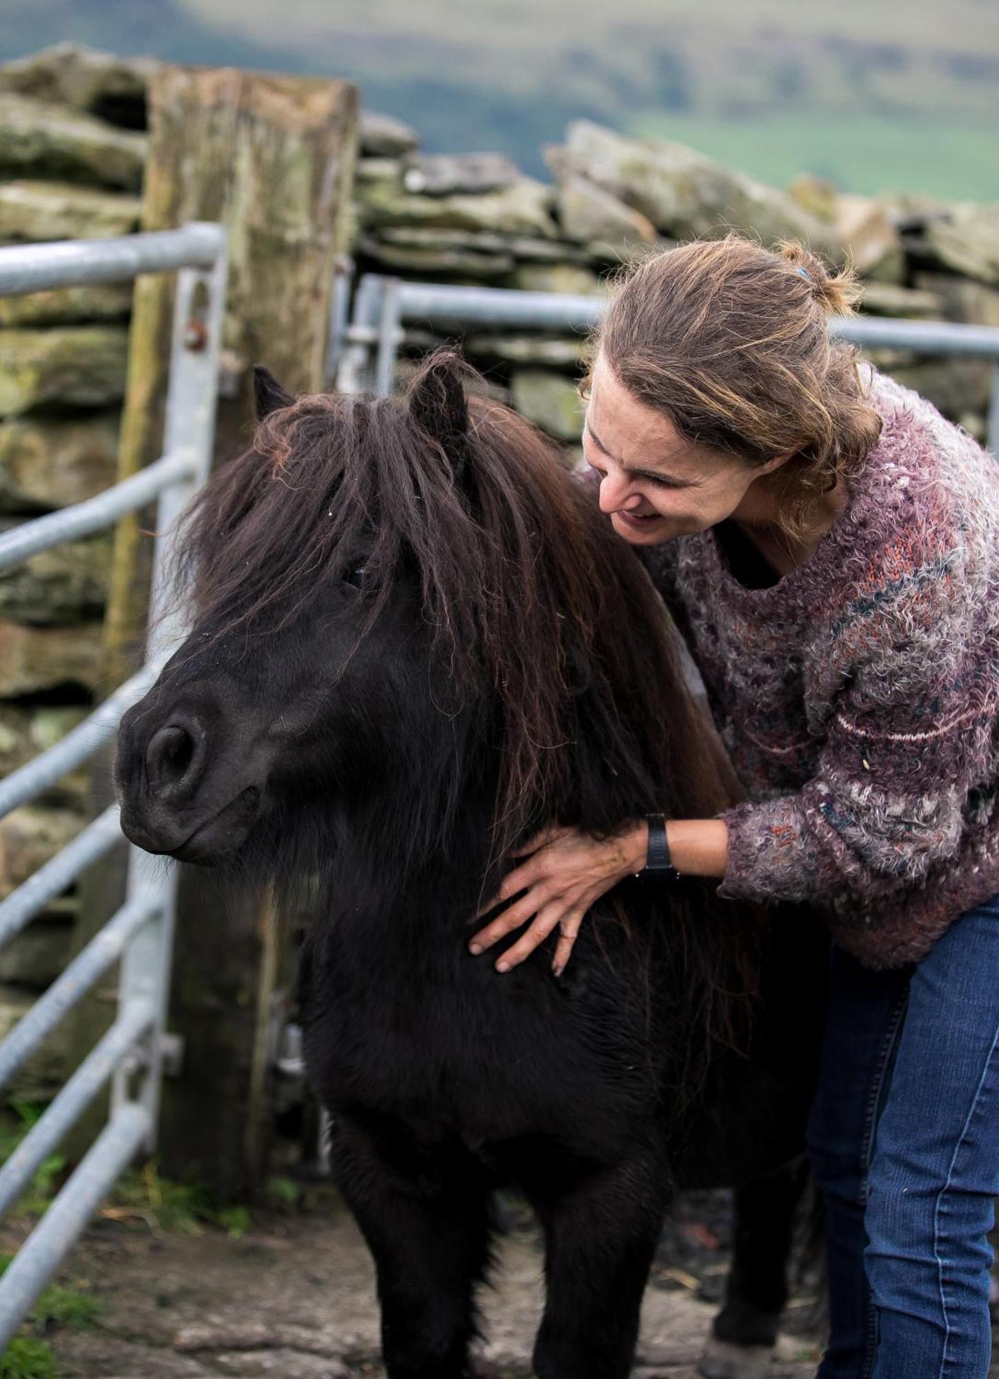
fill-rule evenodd
<path id="1" fill-rule="evenodd" d="M 251 433 L 254 363 L 293 392 L 323 385 L 335 261 L 349 236 L 356 90 L 313 77 L 166 66 L 150 81 L 149 124 L 142 228 L 219 221 L 229 230 L 222 456 Z M 137 283 L 120 477 L 160 454 L 172 288 L 170 277 Z M 121 523 L 116 536 L 106 616 L 112 683 L 132 669 L 142 640 L 142 532 L 138 519 Z M 112 874 L 94 874 L 87 910 L 106 914 L 113 884 Z M 262 1041 L 283 965 L 273 923 L 264 899 L 224 906 L 210 876 L 185 869 L 170 1029 L 186 1054 L 181 1077 L 164 1088 L 160 1164 L 200 1179 L 217 1197 L 250 1190 L 265 1157 Z"/>

